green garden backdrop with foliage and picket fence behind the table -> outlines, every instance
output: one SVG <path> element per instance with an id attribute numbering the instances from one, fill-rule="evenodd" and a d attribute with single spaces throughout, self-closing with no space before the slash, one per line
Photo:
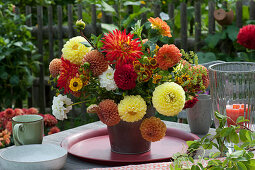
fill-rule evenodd
<path id="1" fill-rule="evenodd" d="M 232 23 L 221 26 L 215 21 L 214 10 L 220 8 L 233 11 Z M 0 9 L 0 111 L 36 107 L 42 114 L 51 113 L 55 92 L 48 84 L 48 65 L 61 57 L 68 38 L 78 35 L 78 19 L 85 21 L 84 34 L 93 39 L 92 34 L 116 28 L 130 31 L 137 20 L 149 26 L 147 18 L 159 16 L 174 35 L 161 41 L 195 51 L 199 63 L 255 61 L 254 53 L 236 42 L 239 28 L 255 24 L 253 0 L 3 0 Z M 98 120 L 86 107 L 72 109 L 68 121 L 59 122 L 61 129 Z"/>

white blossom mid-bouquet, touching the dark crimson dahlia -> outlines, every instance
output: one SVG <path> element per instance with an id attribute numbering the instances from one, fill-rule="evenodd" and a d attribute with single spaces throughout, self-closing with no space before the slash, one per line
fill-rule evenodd
<path id="1" fill-rule="evenodd" d="M 114 81 L 114 70 L 108 68 L 103 74 L 99 76 L 100 87 L 105 87 L 107 91 L 115 90 L 117 85 Z"/>

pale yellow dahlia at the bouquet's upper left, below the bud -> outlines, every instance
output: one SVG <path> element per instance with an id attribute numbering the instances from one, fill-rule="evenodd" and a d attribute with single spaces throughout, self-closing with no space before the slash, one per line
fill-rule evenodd
<path id="1" fill-rule="evenodd" d="M 86 41 L 81 36 L 71 38 L 65 43 L 62 49 L 63 58 L 69 60 L 72 64 L 81 65 L 83 56 L 91 50 L 91 47 L 86 47 L 81 43 Z"/>

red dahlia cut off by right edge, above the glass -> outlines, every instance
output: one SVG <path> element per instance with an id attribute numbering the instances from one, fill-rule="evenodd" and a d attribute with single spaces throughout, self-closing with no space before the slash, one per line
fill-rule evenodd
<path id="1" fill-rule="evenodd" d="M 237 35 L 237 42 L 246 48 L 255 49 L 255 25 L 242 27 Z"/>

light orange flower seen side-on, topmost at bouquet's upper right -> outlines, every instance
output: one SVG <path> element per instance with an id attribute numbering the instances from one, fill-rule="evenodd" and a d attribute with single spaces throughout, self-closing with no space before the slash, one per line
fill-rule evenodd
<path id="1" fill-rule="evenodd" d="M 161 35 L 167 36 L 167 37 L 172 37 L 171 32 L 170 32 L 170 27 L 167 25 L 167 23 L 165 21 L 163 21 L 159 17 L 157 17 L 157 18 L 150 17 L 150 19 L 148 19 L 148 21 L 151 23 L 151 27 L 153 29 L 158 30 Z"/>

